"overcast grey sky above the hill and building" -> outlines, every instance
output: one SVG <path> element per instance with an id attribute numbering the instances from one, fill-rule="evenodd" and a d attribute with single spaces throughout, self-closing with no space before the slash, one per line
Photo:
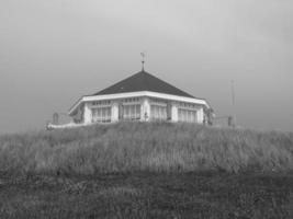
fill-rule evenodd
<path id="1" fill-rule="evenodd" d="M 292 0 L 0 0 L 0 134 L 44 129 L 140 71 L 216 116 L 293 131 Z"/>

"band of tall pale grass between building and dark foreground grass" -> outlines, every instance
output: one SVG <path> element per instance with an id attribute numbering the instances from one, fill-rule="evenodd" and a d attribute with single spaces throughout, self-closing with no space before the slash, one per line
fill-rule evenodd
<path id="1" fill-rule="evenodd" d="M 293 134 L 120 123 L 0 137 L 0 172 L 291 172 Z"/>

